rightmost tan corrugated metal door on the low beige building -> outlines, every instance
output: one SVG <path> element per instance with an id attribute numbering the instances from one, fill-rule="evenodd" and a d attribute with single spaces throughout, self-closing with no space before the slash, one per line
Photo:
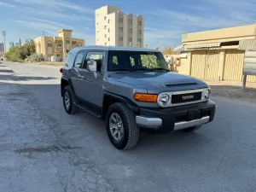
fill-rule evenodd
<path id="1" fill-rule="evenodd" d="M 224 63 L 224 80 L 241 81 L 244 51 L 227 50 Z"/>

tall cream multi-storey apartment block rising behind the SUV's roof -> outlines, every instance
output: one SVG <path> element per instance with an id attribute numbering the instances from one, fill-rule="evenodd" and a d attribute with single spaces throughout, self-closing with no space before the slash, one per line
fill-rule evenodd
<path id="1" fill-rule="evenodd" d="M 119 8 L 96 9 L 96 45 L 143 47 L 144 18 Z"/>

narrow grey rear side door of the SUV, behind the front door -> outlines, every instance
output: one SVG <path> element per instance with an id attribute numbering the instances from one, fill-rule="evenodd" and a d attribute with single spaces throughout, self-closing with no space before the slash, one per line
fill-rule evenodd
<path id="1" fill-rule="evenodd" d="M 79 51 L 76 55 L 76 58 L 73 63 L 72 68 L 72 84 L 73 84 L 73 90 L 76 94 L 76 96 L 79 96 L 80 98 L 84 99 L 84 76 L 83 76 L 83 62 L 85 57 L 86 51 L 82 50 Z"/>

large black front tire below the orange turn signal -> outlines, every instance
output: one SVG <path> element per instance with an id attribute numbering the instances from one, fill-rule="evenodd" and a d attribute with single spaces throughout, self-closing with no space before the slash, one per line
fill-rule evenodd
<path id="1" fill-rule="evenodd" d="M 110 124 L 111 122 L 114 124 L 112 116 L 115 119 L 121 119 L 122 122 L 122 128 L 123 128 L 123 134 L 121 134 L 121 137 L 119 140 L 113 136 L 113 132 L 116 131 L 116 129 L 111 129 Z M 119 115 L 119 118 L 118 118 Z M 106 120 L 106 129 L 108 132 L 108 138 L 110 142 L 113 144 L 115 148 L 118 149 L 129 149 L 133 148 L 138 141 L 139 137 L 139 127 L 137 126 L 136 119 L 134 113 L 131 112 L 131 109 L 128 108 L 125 103 L 122 102 L 116 102 L 113 103 L 109 109 L 107 114 L 107 120 Z M 120 130 L 122 130 L 120 128 Z M 114 131 L 113 131 L 114 130 Z M 118 136 L 119 133 L 116 134 Z"/>

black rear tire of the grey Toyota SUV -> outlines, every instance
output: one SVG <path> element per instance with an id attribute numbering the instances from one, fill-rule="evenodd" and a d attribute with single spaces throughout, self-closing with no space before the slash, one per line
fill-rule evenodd
<path id="1" fill-rule="evenodd" d="M 69 106 L 67 105 L 67 102 L 65 102 L 65 100 L 69 99 Z M 63 106 L 65 108 L 65 111 L 68 114 L 74 114 L 74 113 L 79 113 L 79 108 L 77 106 L 75 106 L 74 104 L 74 95 L 73 95 L 73 91 L 71 90 L 70 86 L 65 86 L 63 89 L 63 94 L 62 94 L 62 99 L 63 99 Z M 66 100 L 67 101 L 67 100 Z"/>

